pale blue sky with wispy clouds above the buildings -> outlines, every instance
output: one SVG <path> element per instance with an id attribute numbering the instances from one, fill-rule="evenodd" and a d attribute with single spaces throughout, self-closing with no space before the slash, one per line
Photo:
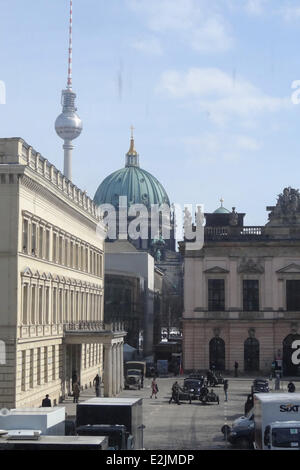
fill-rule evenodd
<path id="1" fill-rule="evenodd" d="M 68 0 L 0 0 L 0 136 L 58 168 Z M 298 0 L 73 0 L 73 89 L 82 135 L 73 181 L 93 197 L 124 166 L 130 126 L 141 166 L 179 204 L 246 212 L 300 187 Z"/>

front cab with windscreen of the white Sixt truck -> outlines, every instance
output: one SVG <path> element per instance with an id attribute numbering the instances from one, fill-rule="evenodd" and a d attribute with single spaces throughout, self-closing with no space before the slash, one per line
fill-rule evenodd
<path id="1" fill-rule="evenodd" d="M 299 450 L 300 422 L 275 421 L 269 424 L 264 432 L 264 445 L 269 450 Z"/>

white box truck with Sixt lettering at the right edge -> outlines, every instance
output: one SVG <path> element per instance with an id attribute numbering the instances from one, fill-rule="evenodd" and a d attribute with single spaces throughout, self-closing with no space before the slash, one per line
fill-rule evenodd
<path id="1" fill-rule="evenodd" d="M 300 449 L 300 393 L 254 394 L 254 448 Z"/>

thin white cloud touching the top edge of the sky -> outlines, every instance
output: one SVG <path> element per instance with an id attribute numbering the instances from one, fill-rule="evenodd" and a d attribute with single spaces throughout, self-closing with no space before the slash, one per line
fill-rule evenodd
<path id="1" fill-rule="evenodd" d="M 172 33 L 200 52 L 224 51 L 233 39 L 224 17 L 208 0 L 128 0 L 157 34 Z"/>

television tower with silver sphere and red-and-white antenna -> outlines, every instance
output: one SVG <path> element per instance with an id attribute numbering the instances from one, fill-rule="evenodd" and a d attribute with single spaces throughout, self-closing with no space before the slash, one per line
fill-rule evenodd
<path id="1" fill-rule="evenodd" d="M 62 91 L 61 104 L 62 113 L 55 121 L 55 130 L 58 136 L 64 140 L 64 175 L 72 179 L 72 140 L 81 134 L 82 122 L 76 114 L 76 93 L 72 90 L 72 14 L 73 2 L 70 0 L 70 28 L 69 28 L 69 63 L 67 88 Z"/>

